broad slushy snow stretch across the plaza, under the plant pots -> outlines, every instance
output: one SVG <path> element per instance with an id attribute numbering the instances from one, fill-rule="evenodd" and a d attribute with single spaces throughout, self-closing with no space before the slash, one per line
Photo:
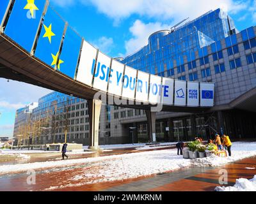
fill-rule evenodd
<path id="1" fill-rule="evenodd" d="M 83 168 L 81 173 L 70 176 L 66 186 L 51 186 L 50 189 L 82 186 L 97 182 L 132 179 L 148 176 L 166 171 L 179 170 L 189 166 L 220 166 L 232 163 L 239 159 L 256 156 L 256 142 L 234 142 L 232 157 L 211 156 L 203 159 L 183 159 L 177 156 L 176 149 L 136 152 L 131 154 L 118 154 L 104 157 L 90 157 L 65 161 L 47 161 L 30 164 L 14 164 L 0 166 L 0 175 L 18 171 L 56 168 L 62 171 L 65 168 Z M 73 183 L 72 183 L 73 181 Z M 76 184 L 74 182 L 76 181 Z M 77 181 L 78 184 L 77 184 Z"/>

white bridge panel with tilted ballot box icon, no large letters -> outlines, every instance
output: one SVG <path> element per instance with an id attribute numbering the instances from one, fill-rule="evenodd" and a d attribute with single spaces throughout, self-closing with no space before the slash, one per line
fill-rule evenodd
<path id="1" fill-rule="evenodd" d="M 174 104 L 177 106 L 186 106 L 186 82 L 175 80 Z"/>

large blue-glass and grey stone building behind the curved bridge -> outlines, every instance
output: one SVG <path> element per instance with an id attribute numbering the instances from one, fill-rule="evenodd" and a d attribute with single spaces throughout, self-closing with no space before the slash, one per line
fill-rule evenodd
<path id="1" fill-rule="evenodd" d="M 157 113 L 157 142 L 206 139 L 215 133 L 255 136 L 255 36 L 256 27 L 239 32 L 232 18 L 218 9 L 170 31 L 157 31 L 149 36 L 148 45 L 118 59 L 161 77 L 215 83 L 210 110 Z M 38 127 L 35 143 L 63 142 L 67 130 L 68 142 L 88 144 L 88 108 L 83 99 L 52 92 L 39 100 L 32 121 Z M 145 111 L 102 106 L 99 136 L 101 144 L 148 142 Z"/>

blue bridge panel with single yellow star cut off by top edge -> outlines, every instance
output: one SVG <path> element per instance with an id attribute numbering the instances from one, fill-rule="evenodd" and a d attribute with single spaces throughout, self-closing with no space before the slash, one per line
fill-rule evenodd
<path id="1" fill-rule="evenodd" d="M 4 33 L 31 52 L 44 8 L 42 0 L 15 1 Z"/>

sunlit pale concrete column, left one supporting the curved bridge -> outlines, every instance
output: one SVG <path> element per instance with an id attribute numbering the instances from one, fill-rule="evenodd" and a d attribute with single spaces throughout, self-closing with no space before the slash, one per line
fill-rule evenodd
<path id="1" fill-rule="evenodd" d="M 89 148 L 93 150 L 99 149 L 99 122 L 100 122 L 100 109 L 102 101 L 88 100 L 88 112 L 90 122 L 89 134 Z"/>

